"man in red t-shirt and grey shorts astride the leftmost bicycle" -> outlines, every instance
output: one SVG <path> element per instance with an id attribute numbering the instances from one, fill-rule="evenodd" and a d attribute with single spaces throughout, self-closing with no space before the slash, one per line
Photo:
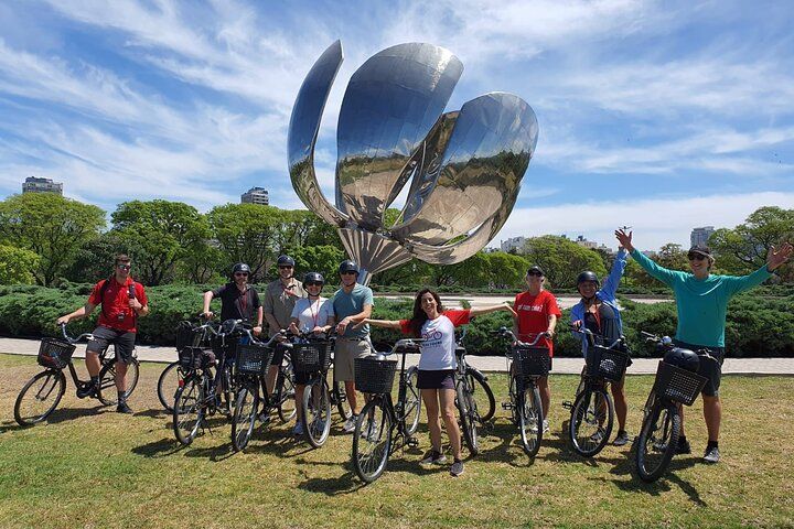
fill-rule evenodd
<path id="1" fill-rule="evenodd" d="M 83 399 L 96 393 L 101 367 L 99 354 L 110 344 L 115 344 L 116 389 L 118 391 L 116 411 L 119 413 L 132 413 L 127 406 L 127 365 L 132 359 L 138 316 L 149 314 L 143 285 L 132 281 L 130 268 L 130 258 L 124 253 L 118 255 L 114 276 L 103 279 L 94 285 L 88 302 L 84 306 L 57 320 L 58 325 L 66 324 L 71 320 L 89 316 L 94 309 L 101 305 L 98 326 L 92 333 L 94 338 L 88 342 L 86 347 L 86 368 L 90 375 L 90 381 L 87 386 L 77 389 L 77 397 Z"/>

